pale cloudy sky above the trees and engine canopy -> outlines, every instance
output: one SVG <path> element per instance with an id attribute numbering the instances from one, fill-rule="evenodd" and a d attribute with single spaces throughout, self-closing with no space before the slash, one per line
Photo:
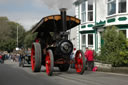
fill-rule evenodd
<path id="1" fill-rule="evenodd" d="M 0 0 L 0 17 L 23 25 L 30 30 L 43 17 L 59 14 L 60 8 L 67 8 L 68 15 L 75 15 L 75 0 Z"/>

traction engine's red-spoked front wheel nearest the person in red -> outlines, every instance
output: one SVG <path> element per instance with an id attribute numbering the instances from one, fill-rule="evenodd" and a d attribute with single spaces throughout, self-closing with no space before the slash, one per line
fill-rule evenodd
<path id="1" fill-rule="evenodd" d="M 75 69 L 79 74 L 83 74 L 85 70 L 86 59 L 83 51 L 78 50 L 75 54 Z"/>

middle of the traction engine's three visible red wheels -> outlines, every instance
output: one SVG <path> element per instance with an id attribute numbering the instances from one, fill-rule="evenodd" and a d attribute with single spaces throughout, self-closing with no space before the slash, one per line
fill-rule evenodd
<path id="1" fill-rule="evenodd" d="M 52 76 L 54 70 L 54 58 L 52 50 L 48 50 L 46 53 L 45 66 L 48 76 Z"/>

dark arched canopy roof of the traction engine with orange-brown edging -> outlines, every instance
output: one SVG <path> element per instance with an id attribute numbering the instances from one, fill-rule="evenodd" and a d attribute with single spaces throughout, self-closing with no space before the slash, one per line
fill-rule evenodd
<path id="1" fill-rule="evenodd" d="M 67 30 L 80 24 L 80 19 L 66 16 Z M 61 32 L 62 29 L 62 20 L 61 15 L 51 15 L 42 18 L 32 29 L 34 32 Z"/>

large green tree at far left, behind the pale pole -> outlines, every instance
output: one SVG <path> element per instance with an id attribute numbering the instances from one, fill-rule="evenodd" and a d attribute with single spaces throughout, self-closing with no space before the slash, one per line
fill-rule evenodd
<path id="1" fill-rule="evenodd" d="M 7 17 L 0 17 L 0 50 L 13 51 L 16 48 L 17 26 L 19 29 L 19 47 L 23 46 L 25 30 L 16 22 L 9 21 Z"/>

